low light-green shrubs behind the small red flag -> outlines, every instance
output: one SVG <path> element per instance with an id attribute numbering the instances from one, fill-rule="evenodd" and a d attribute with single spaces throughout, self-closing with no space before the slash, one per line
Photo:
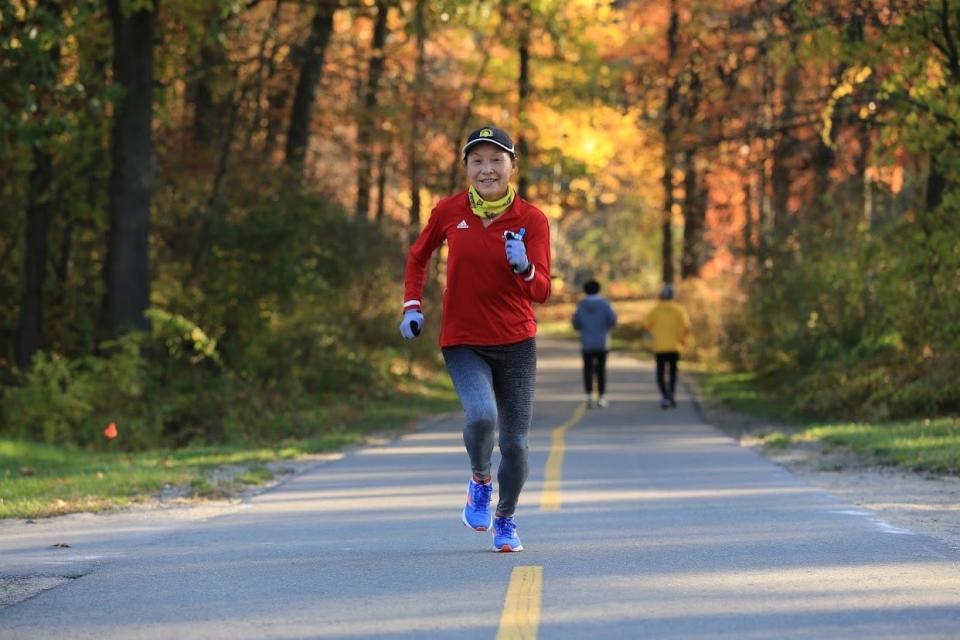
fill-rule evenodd
<path id="1" fill-rule="evenodd" d="M 40 353 L 3 398 L 5 435 L 48 444 L 146 449 L 217 439 L 225 405 L 216 343 L 188 319 L 148 312 L 133 332 L 69 360 Z M 116 423 L 122 438 L 102 430 Z"/>

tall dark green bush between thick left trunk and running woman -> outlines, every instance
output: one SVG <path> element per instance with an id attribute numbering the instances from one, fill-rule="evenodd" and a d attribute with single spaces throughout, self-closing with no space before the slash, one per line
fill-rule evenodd
<path id="1" fill-rule="evenodd" d="M 238 189 L 216 211 L 161 200 L 157 227 L 178 241 L 155 295 L 198 319 L 228 370 L 291 393 L 377 392 L 403 257 L 376 225 L 309 194 Z"/>

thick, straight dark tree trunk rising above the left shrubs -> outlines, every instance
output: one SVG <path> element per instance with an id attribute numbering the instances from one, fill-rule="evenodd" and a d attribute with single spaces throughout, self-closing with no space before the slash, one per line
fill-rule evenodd
<path id="1" fill-rule="evenodd" d="M 127 15 L 109 0 L 113 23 L 113 81 L 123 89 L 113 122 L 110 231 L 105 276 L 105 323 L 110 335 L 146 329 L 150 305 L 150 198 L 153 190 L 152 9 Z"/>

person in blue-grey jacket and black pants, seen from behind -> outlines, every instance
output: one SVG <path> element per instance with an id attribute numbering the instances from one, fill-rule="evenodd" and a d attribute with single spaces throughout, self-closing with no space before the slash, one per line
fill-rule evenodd
<path id="1" fill-rule="evenodd" d="M 588 280 L 583 284 L 586 296 L 573 314 L 573 328 L 580 332 L 583 352 L 583 387 L 587 393 L 587 407 L 606 407 L 607 352 L 610 350 L 610 330 L 617 324 L 617 314 L 610 302 L 600 295 L 600 283 Z M 593 395 L 593 380 L 597 380 L 597 395 Z"/>

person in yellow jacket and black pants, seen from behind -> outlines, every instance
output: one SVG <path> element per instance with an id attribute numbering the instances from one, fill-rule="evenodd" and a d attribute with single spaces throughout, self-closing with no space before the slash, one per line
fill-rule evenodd
<path id="1" fill-rule="evenodd" d="M 663 285 L 660 301 L 643 321 L 650 332 L 653 354 L 657 359 L 657 386 L 660 388 L 660 408 L 676 407 L 677 362 L 680 347 L 690 335 L 690 317 L 687 310 L 674 299 L 673 287 Z"/>

